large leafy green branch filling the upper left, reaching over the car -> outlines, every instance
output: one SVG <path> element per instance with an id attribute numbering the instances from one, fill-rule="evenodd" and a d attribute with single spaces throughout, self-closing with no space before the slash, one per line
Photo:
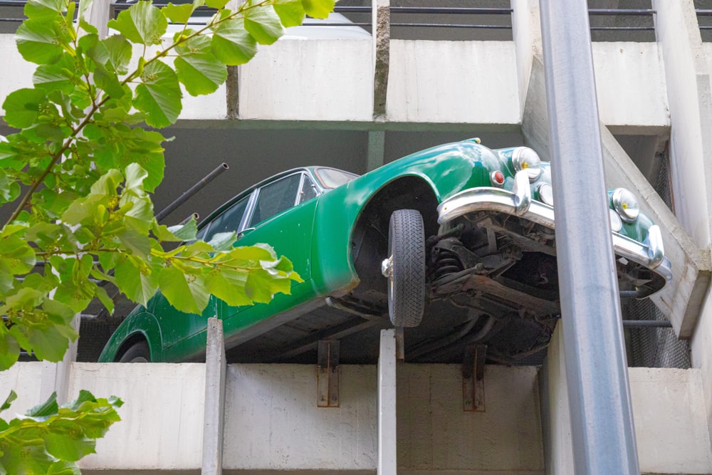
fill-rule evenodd
<path id="1" fill-rule="evenodd" d="M 21 348 L 60 360 L 76 333 L 73 315 L 98 299 L 110 312 L 110 283 L 137 303 L 162 291 L 199 313 L 214 294 L 231 305 L 264 302 L 299 276 L 268 246 L 234 247 L 234 234 L 194 241 L 196 224 L 167 228 L 150 194 L 162 181 L 167 140 L 182 90 L 212 93 L 227 66 L 249 61 L 305 14 L 325 17 L 333 0 L 194 0 L 157 8 L 138 1 L 109 21 L 101 38 L 75 18 L 70 0 L 28 0 L 16 33 L 38 66 L 33 88 L 8 95 L 4 120 L 19 132 L 0 142 L 0 205 L 14 207 L 0 229 L 0 370 Z M 187 25 L 201 6 L 204 26 Z M 172 35 L 169 24 L 182 24 Z M 187 243 L 170 251 L 164 244 Z"/>

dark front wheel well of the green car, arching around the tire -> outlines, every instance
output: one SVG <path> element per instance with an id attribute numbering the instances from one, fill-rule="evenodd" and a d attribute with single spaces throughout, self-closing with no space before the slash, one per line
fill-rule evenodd
<path id="1" fill-rule="evenodd" d="M 360 285 L 357 298 L 373 300 L 386 293 L 381 261 L 387 255 L 388 221 L 396 209 L 416 209 L 423 216 L 425 236 L 437 233 L 438 201 L 431 186 L 419 177 L 403 177 L 390 182 L 374 194 L 359 216 L 352 239 L 354 267 Z"/>

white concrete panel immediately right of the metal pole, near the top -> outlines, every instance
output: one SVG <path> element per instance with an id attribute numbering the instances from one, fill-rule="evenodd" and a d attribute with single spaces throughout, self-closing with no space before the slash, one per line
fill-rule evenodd
<path id="1" fill-rule="evenodd" d="M 592 43 L 601 122 L 614 133 L 669 127 L 665 71 L 657 43 Z"/>

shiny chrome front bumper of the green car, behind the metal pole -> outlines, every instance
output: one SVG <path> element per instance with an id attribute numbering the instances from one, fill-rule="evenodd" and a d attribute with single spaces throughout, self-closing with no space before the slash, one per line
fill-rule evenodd
<path id="1" fill-rule="evenodd" d="M 511 192 L 493 187 L 466 189 L 446 199 L 438 207 L 438 223 L 444 224 L 473 212 L 492 211 L 519 216 L 554 229 L 554 208 L 532 199 L 529 179 L 519 172 Z M 644 243 L 612 231 L 613 249 L 618 256 L 654 269 L 666 281 L 672 278 L 670 261 L 665 257 L 660 228 L 648 229 Z"/>

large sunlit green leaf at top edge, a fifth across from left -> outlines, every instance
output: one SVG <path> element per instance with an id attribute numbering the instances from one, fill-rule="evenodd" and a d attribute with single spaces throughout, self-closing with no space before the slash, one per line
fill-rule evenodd
<path id="1" fill-rule="evenodd" d="M 109 28 L 125 36 L 132 43 L 157 45 L 168 28 L 168 21 L 151 1 L 138 1 L 122 11 L 117 19 L 108 23 Z"/>

